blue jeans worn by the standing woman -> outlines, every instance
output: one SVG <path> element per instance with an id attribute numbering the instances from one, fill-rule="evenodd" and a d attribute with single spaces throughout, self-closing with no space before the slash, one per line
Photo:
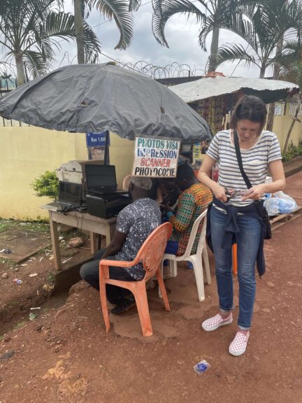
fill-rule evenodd
<path id="1" fill-rule="evenodd" d="M 222 311 L 233 309 L 232 250 L 225 248 L 223 238 L 227 213 L 215 206 L 210 212 L 211 236 L 215 255 L 217 290 Z M 261 238 L 261 222 L 249 215 L 237 217 L 240 232 L 236 233 L 239 282 L 238 327 L 250 329 L 256 294 L 255 264 Z"/>

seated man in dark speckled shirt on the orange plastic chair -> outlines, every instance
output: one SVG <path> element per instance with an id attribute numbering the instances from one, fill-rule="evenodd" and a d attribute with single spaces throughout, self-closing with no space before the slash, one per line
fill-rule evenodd
<path id="1" fill-rule="evenodd" d="M 117 215 L 117 226 L 109 245 L 94 255 L 94 260 L 82 265 L 80 276 L 99 290 L 99 261 L 125 260 L 131 262 L 151 232 L 161 224 L 161 212 L 156 201 L 148 198 L 152 182 L 150 178 L 128 176 L 124 179 L 124 190 L 129 191 L 132 203 Z M 109 267 L 109 276 L 115 280 L 139 281 L 145 276 L 143 264 L 129 268 Z M 115 285 L 106 285 L 107 299 L 115 304 L 112 313 L 122 313 L 135 304 L 129 290 Z"/>

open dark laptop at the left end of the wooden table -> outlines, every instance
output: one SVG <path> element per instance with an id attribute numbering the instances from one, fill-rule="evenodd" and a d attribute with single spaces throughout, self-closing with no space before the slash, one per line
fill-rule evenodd
<path id="1" fill-rule="evenodd" d="M 41 208 L 58 212 L 76 210 L 81 205 L 81 194 L 82 185 L 79 183 L 59 181 L 59 200 L 44 204 Z"/>

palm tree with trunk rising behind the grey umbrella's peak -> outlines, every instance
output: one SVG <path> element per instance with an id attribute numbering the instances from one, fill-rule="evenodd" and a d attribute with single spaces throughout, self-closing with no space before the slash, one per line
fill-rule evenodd
<path id="1" fill-rule="evenodd" d="M 126 0 L 73 0 L 76 41 L 78 47 L 78 63 L 85 63 L 84 18 L 95 6 L 109 20 L 115 20 L 120 30 L 120 41 L 115 49 L 126 49 L 133 37 L 133 17 Z M 87 14 L 85 15 L 85 8 Z"/>

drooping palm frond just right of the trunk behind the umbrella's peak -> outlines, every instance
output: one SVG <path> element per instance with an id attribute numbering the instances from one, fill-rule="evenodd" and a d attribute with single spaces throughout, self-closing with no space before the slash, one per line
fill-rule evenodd
<path id="1" fill-rule="evenodd" d="M 126 49 L 133 37 L 133 17 L 129 12 L 129 3 L 125 0 L 92 0 L 92 5 L 96 6 L 100 13 L 109 20 L 115 20 L 117 28 L 120 30 L 120 41 L 115 49 Z"/>

